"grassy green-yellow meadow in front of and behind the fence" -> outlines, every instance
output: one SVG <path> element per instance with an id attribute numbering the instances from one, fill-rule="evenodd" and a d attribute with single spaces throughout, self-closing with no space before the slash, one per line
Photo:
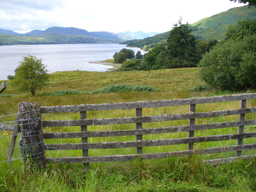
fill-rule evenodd
<path id="1" fill-rule="evenodd" d="M 9 85 L 4 91 L 6 96 L 0 97 L 0 116 L 16 114 L 19 102 L 38 102 L 41 106 L 96 104 L 135 102 L 146 100 L 169 100 L 191 97 L 205 97 L 222 94 L 233 94 L 231 92 L 192 92 L 189 90 L 195 85 L 203 82 L 198 78 L 197 68 L 179 68 L 154 71 L 130 71 L 130 72 L 55 72 L 50 74 L 50 86 L 46 90 L 37 92 L 32 97 L 27 93 L 16 92 Z M 0 82 L 0 84 L 3 81 Z M 132 84 L 146 85 L 158 88 L 155 92 L 113 92 L 97 93 L 89 92 L 104 88 L 110 85 Z M 79 94 L 47 95 L 44 92 L 56 92 L 64 90 L 78 90 Z M 255 92 L 255 90 L 250 90 Z M 234 93 L 239 94 L 239 93 Z M 12 95 L 12 96 L 8 96 Z M 247 107 L 255 107 L 256 101 L 249 100 Z M 225 104 L 200 104 L 196 112 L 210 110 L 226 110 L 239 108 L 239 102 L 226 102 Z M 149 108 L 143 111 L 143 115 L 178 114 L 187 113 L 188 106 L 173 106 L 164 108 Z M 88 118 L 114 118 L 135 116 L 134 110 L 111 110 L 104 112 L 88 112 Z M 57 119 L 78 119 L 78 113 L 66 114 L 43 114 L 42 118 L 48 120 Z M 6 117 L 6 120 L 14 120 L 15 116 Z M 246 120 L 255 119 L 255 114 L 246 115 Z M 238 116 L 225 116 L 219 118 L 206 118 L 196 120 L 196 124 L 214 123 L 223 121 L 236 121 Z M 156 125 L 157 124 L 157 125 Z M 188 124 L 187 120 L 172 122 L 172 126 Z M 135 125 L 134 125 L 135 126 Z M 147 127 L 164 127 L 166 122 L 148 123 Z M 88 130 L 115 130 L 118 126 L 90 126 Z M 122 129 L 127 129 L 123 125 Z M 68 131 L 71 127 L 47 128 L 45 132 Z M 79 127 L 72 128 L 79 131 Z M 255 131 L 255 126 L 247 126 L 245 132 Z M 213 134 L 236 133 L 237 128 L 222 128 L 211 131 L 198 131 L 196 136 Z M 0 132 L 1 135 L 4 132 Z M 8 132 L 8 134 L 11 134 Z M 175 133 L 172 137 L 186 137 L 187 133 Z M 170 138 L 170 134 L 160 134 L 158 138 Z M 89 142 L 110 142 L 135 140 L 135 136 L 120 138 L 90 138 Z M 143 138 L 144 139 L 144 138 Z M 153 139 L 151 135 L 145 139 Z M 0 140 L 1 146 L 8 145 L 9 138 Z M 57 141 L 48 140 L 48 143 Z M 60 142 L 60 141 L 58 141 Z M 65 139 L 63 142 L 81 142 L 81 139 Z M 195 148 L 217 147 L 235 145 L 236 141 L 207 142 L 206 144 L 195 145 Z M 245 139 L 244 144 L 255 143 L 254 138 Z M 162 146 L 145 148 L 144 152 L 165 152 L 184 150 L 187 146 Z M 255 154 L 255 150 L 243 152 Z M 134 154 L 135 149 L 114 149 L 114 150 L 89 150 L 89 155 L 112 155 L 112 154 Z M 81 151 L 51 151 L 47 156 L 81 156 Z M 14 151 L 14 157 L 18 158 L 18 150 Z M 89 170 L 84 170 L 82 164 L 49 164 L 46 170 L 28 170 L 24 168 L 21 160 L 11 164 L 0 163 L 0 191 L 241 191 L 253 192 L 256 190 L 256 160 L 228 163 L 219 166 L 210 166 L 202 160 L 208 158 L 220 158 L 223 156 L 234 156 L 234 152 L 225 154 L 214 154 L 207 156 L 193 156 L 184 158 L 166 158 L 161 160 L 134 160 L 129 162 L 91 163 Z M 0 161 L 6 159 L 6 152 L 0 155 Z"/>

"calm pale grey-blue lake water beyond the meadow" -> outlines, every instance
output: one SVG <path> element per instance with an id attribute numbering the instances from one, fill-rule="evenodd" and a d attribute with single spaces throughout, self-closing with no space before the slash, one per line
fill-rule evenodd
<path id="1" fill-rule="evenodd" d="M 0 46 L 0 80 L 14 75 L 23 56 L 28 54 L 42 58 L 50 73 L 56 71 L 106 71 L 110 66 L 89 62 L 112 59 L 125 45 L 120 44 L 58 44 Z M 128 48 L 135 54 L 140 48 Z M 142 51 L 141 51 L 142 52 Z M 142 52 L 143 54 L 143 52 Z"/>

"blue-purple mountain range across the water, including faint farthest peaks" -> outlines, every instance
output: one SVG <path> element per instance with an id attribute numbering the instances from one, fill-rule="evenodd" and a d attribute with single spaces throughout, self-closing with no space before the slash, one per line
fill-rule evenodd
<path id="1" fill-rule="evenodd" d="M 3 35 L 5 34 L 5 35 Z M 74 27 L 50 27 L 46 30 L 32 30 L 27 33 L 17 33 L 12 30 L 5 30 L 0 29 L 0 45 L 4 44 L 36 44 L 38 41 L 33 41 L 33 38 L 37 38 L 39 40 L 38 43 L 40 43 L 40 39 L 43 38 L 44 41 L 42 41 L 42 44 L 48 44 L 49 38 L 51 39 L 51 43 L 70 43 L 71 39 L 76 39 L 76 42 L 73 43 L 96 43 L 96 42 L 122 42 L 123 40 L 133 40 L 133 39 L 140 39 L 140 38 L 146 38 L 149 36 L 154 36 L 158 33 L 152 32 L 145 34 L 141 31 L 138 32 L 120 32 L 120 33 L 110 33 L 110 32 L 88 32 L 84 29 L 74 28 Z M 10 38 L 11 36 L 8 35 L 14 35 L 14 36 L 20 36 L 20 37 L 12 37 L 15 39 L 15 42 L 6 42 L 4 40 L 1 40 L 2 38 Z M 24 38 L 22 38 L 24 37 Z M 65 41 L 65 37 L 67 38 L 67 41 Z M 58 39 L 56 39 L 58 38 Z M 23 40 L 23 42 L 22 42 Z M 71 42 L 72 43 L 72 42 Z"/>

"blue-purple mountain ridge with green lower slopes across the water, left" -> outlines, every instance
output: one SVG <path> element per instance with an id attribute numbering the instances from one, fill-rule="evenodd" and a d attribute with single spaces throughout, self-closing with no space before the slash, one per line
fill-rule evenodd
<path id="1" fill-rule="evenodd" d="M 25 34 L 0 30 L 0 45 L 120 43 L 122 41 L 109 32 L 88 32 L 74 27 L 51 27 L 44 31 L 33 30 Z"/>

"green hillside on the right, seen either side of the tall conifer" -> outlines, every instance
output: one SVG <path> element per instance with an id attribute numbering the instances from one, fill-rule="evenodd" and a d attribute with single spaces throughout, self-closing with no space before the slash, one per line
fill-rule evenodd
<path id="1" fill-rule="evenodd" d="M 246 18 L 256 20 L 256 8 L 248 8 L 247 5 L 236 7 L 211 17 L 199 20 L 194 24 L 190 24 L 192 28 L 192 35 L 194 35 L 196 39 L 202 40 L 224 39 L 228 26 L 235 25 L 237 24 L 238 20 L 244 20 Z M 165 42 L 169 33 L 170 31 L 144 38 L 142 40 L 126 41 L 122 44 L 140 48 L 148 45 L 149 48 L 152 48 L 157 44 Z"/>

